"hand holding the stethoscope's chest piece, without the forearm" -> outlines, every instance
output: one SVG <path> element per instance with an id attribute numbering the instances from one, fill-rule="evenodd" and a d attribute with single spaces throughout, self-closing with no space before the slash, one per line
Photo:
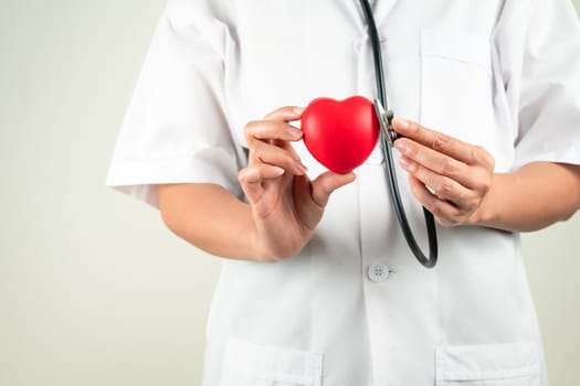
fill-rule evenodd
<path id="1" fill-rule="evenodd" d="M 477 223 L 477 210 L 492 187 L 495 160 L 485 149 L 419 124 L 396 118 L 400 164 L 411 191 L 441 225 Z"/>

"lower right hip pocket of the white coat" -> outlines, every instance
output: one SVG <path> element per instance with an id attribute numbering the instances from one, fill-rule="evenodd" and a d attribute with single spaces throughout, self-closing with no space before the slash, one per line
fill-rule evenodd
<path id="1" fill-rule="evenodd" d="M 442 346 L 436 386 L 539 386 L 540 358 L 531 342 Z"/>

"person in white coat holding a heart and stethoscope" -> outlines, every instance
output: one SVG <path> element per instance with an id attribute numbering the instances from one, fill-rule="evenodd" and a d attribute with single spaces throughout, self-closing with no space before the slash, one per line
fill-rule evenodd
<path id="1" fill-rule="evenodd" d="M 419 239 L 421 204 L 439 222 L 432 270 L 399 230 L 380 149 L 340 175 L 300 140 L 297 106 L 375 97 L 355 0 L 169 1 L 108 184 L 226 258 L 205 386 L 545 386 L 518 233 L 580 207 L 574 10 L 568 0 L 373 10 L 407 137 L 396 143 L 410 221 Z"/>

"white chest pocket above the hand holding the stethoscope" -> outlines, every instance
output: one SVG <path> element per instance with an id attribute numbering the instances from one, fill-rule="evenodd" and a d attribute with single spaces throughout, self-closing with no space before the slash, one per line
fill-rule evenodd
<path id="1" fill-rule="evenodd" d="M 495 146 L 489 36 L 421 31 L 421 122 L 488 150 Z"/>

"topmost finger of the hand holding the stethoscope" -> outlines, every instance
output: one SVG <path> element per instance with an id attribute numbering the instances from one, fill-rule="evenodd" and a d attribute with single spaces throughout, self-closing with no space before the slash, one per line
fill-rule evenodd
<path id="1" fill-rule="evenodd" d="M 416 122 L 396 118 L 393 126 L 397 132 L 435 151 L 450 156 L 467 164 L 485 164 L 493 168 L 493 157 L 482 147 L 463 142 L 439 131 L 428 129 Z M 394 143 L 397 146 L 397 140 Z"/>

